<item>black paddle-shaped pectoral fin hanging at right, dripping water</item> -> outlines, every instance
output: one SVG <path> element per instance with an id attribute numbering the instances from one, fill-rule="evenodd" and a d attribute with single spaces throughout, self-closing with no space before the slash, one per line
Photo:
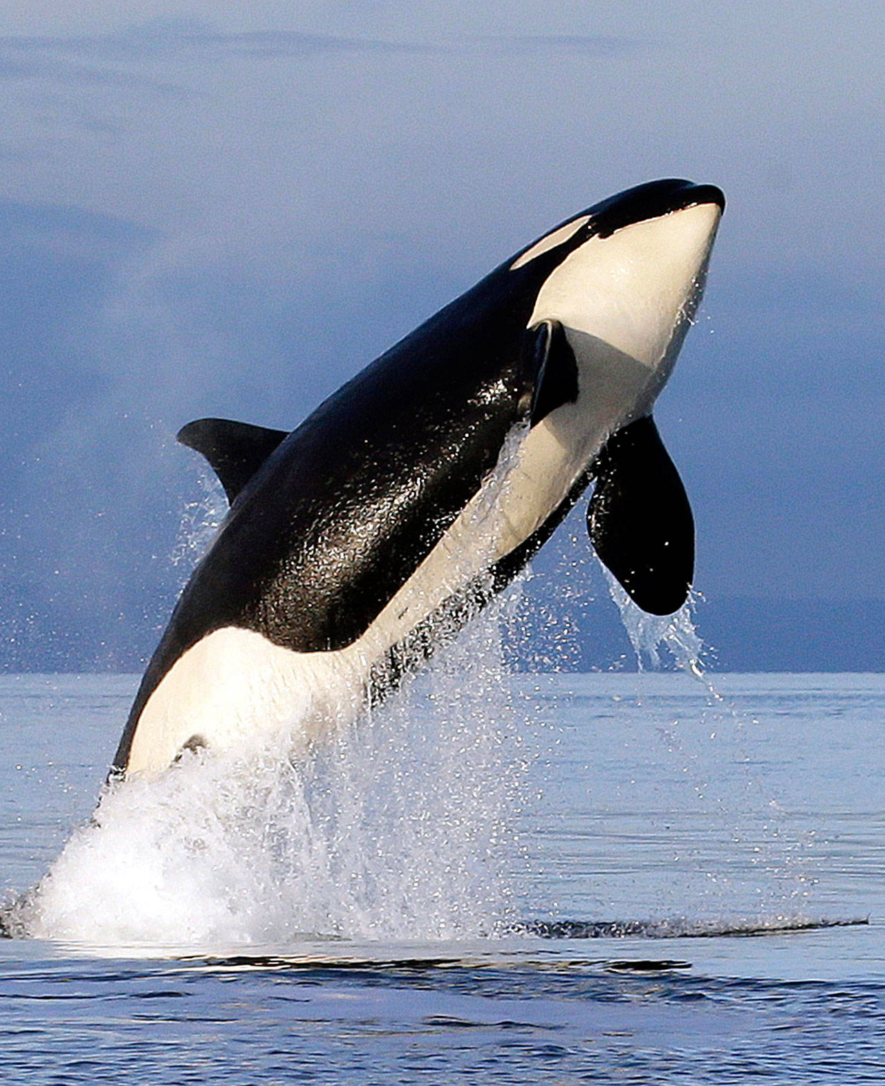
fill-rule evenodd
<path id="1" fill-rule="evenodd" d="M 679 610 L 694 577 L 695 526 L 650 416 L 608 439 L 595 473 L 587 530 L 596 554 L 643 610 Z"/>

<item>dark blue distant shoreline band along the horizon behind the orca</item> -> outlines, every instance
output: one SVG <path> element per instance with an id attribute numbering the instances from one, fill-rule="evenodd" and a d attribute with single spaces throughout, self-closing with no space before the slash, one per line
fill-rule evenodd
<path id="1" fill-rule="evenodd" d="M 531 578 L 522 592 L 526 599 L 505 635 L 514 670 L 637 670 L 611 601 L 569 595 L 546 573 Z M 141 673 L 159 629 L 143 617 L 139 623 L 115 615 L 104 629 L 79 630 L 73 610 L 18 622 L 10 614 L 0 618 L 3 674 Z M 705 664 L 716 673 L 885 672 L 885 601 L 713 596 L 697 605 L 695 621 Z"/>

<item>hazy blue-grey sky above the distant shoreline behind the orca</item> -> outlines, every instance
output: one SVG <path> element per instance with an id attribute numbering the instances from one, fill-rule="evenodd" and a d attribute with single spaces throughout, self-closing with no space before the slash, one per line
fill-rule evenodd
<path id="1" fill-rule="evenodd" d="M 883 31 L 854 2 L 4 5 L 7 616 L 159 620 L 201 494 L 179 426 L 293 427 L 660 176 L 729 199 L 657 412 L 698 586 L 885 599 Z"/>

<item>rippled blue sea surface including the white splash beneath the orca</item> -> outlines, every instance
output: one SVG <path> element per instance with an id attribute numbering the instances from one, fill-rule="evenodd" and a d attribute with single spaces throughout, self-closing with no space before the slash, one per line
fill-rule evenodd
<path id="1" fill-rule="evenodd" d="M 885 675 L 444 667 L 96 811 L 136 684 L 0 677 L 2 1081 L 885 1081 Z"/>

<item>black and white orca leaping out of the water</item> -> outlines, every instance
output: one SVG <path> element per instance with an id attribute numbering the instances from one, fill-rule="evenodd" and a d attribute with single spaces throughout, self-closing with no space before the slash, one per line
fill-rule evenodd
<path id="1" fill-rule="evenodd" d="M 630 189 L 506 261 L 291 433 L 186 426 L 230 510 L 112 775 L 256 732 L 308 743 L 506 585 L 591 480 L 599 557 L 640 607 L 677 610 L 694 526 L 650 412 L 723 209 L 709 185 Z"/>

